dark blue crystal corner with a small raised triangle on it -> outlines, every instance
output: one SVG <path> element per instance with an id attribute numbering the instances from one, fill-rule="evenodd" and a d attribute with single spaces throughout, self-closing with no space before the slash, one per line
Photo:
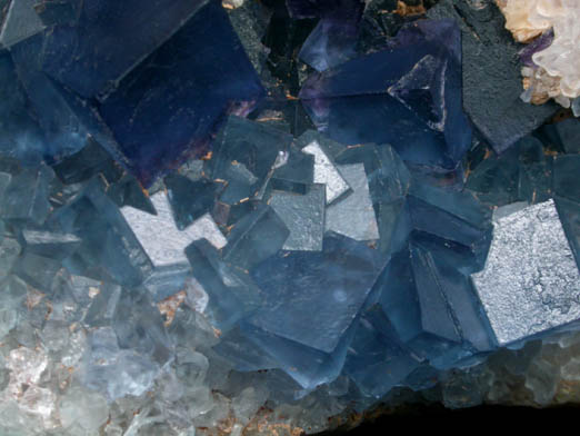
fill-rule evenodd
<path id="1" fill-rule="evenodd" d="M 334 140 L 388 142 L 409 162 L 452 170 L 471 143 L 460 38 L 450 20 L 418 21 L 386 50 L 311 76 L 300 98 Z"/>

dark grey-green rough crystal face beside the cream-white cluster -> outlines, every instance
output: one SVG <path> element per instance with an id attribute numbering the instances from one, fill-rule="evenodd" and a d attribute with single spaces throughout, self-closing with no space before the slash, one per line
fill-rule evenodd
<path id="1" fill-rule="evenodd" d="M 519 47 L 503 29 L 504 20 L 492 1 L 441 0 L 430 18 L 452 18 L 461 27 L 463 108 L 493 149 L 502 152 L 556 111 L 521 101 Z"/>

